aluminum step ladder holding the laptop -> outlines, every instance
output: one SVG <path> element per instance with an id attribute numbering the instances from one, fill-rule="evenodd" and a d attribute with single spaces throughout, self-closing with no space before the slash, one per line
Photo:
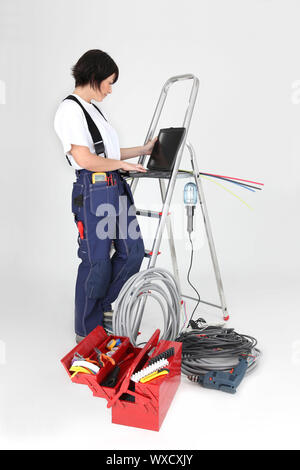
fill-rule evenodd
<path id="1" fill-rule="evenodd" d="M 160 248 L 160 244 L 161 244 L 162 235 L 163 235 L 164 229 L 166 227 L 167 231 L 168 231 L 169 247 L 170 247 L 171 259 L 172 259 L 174 277 L 175 277 L 175 279 L 177 281 L 177 284 L 179 286 L 179 289 L 180 289 L 179 294 L 180 294 L 181 298 L 187 298 L 187 299 L 195 300 L 195 301 L 198 302 L 198 300 L 199 300 L 198 298 L 185 295 L 181 292 L 180 276 L 179 276 L 177 256 L 176 256 L 176 250 L 175 250 L 173 228 L 172 228 L 171 219 L 169 217 L 169 215 L 170 215 L 170 212 L 169 212 L 170 204 L 171 204 L 172 196 L 173 196 L 173 193 L 174 193 L 174 188 L 175 188 L 177 178 L 179 178 L 179 177 L 180 178 L 182 178 L 182 177 L 183 178 L 184 177 L 191 178 L 191 176 L 194 178 L 194 181 L 195 181 L 195 184 L 196 184 L 196 187 L 197 187 L 197 193 L 198 193 L 198 202 L 197 203 L 200 204 L 201 211 L 202 211 L 206 236 L 207 236 L 207 240 L 208 240 L 211 260 L 212 260 L 212 264 L 213 264 L 213 268 L 214 268 L 216 284 L 217 284 L 217 289 L 218 289 L 219 298 L 220 298 L 220 305 L 217 305 L 217 304 L 214 304 L 212 302 L 208 302 L 208 301 L 205 301 L 205 300 L 202 300 L 202 299 L 200 299 L 200 302 L 204 303 L 206 305 L 221 309 L 222 313 L 223 313 L 223 319 L 228 320 L 229 316 L 228 316 L 228 311 L 227 311 L 227 306 L 226 306 L 226 301 L 225 301 L 223 283 L 222 283 L 222 279 L 221 279 L 221 273 L 220 273 L 219 263 L 218 263 L 218 259 L 217 259 L 215 244 L 214 244 L 214 240 L 213 240 L 212 229 L 211 229 L 211 225 L 210 225 L 210 221 L 209 221 L 207 206 L 206 206 L 206 202 L 205 202 L 204 191 L 203 191 L 203 186 L 202 186 L 202 182 L 201 182 L 201 176 L 200 176 L 199 168 L 198 168 L 198 164 L 197 164 L 196 154 L 195 154 L 195 150 L 194 150 L 193 146 L 187 141 L 188 131 L 189 131 L 191 118 L 192 118 L 192 114 L 193 114 L 193 111 L 194 111 L 194 106 L 195 106 L 195 102 L 196 102 L 196 98 L 197 98 L 197 94 L 198 94 L 198 88 L 199 88 L 199 79 L 197 77 L 195 77 L 192 74 L 177 75 L 177 76 L 169 78 L 166 81 L 166 83 L 164 84 L 164 86 L 162 88 L 158 103 L 156 105 L 156 109 L 154 111 L 154 115 L 152 117 L 152 121 L 150 123 L 150 127 L 149 127 L 149 130 L 148 130 L 147 135 L 146 135 L 145 144 L 149 140 L 153 139 L 153 137 L 154 137 L 154 133 L 155 133 L 155 130 L 157 128 L 157 124 L 158 124 L 161 112 L 163 110 L 165 100 L 167 98 L 167 94 L 168 94 L 168 91 L 169 91 L 170 87 L 178 81 L 185 81 L 185 80 L 192 80 L 193 81 L 190 96 L 189 96 L 189 103 L 188 103 L 188 107 L 187 107 L 185 117 L 184 117 L 184 121 L 183 121 L 183 125 L 182 125 L 182 127 L 184 127 L 186 129 L 186 132 L 184 134 L 183 141 L 182 141 L 181 146 L 179 148 L 179 151 L 178 151 L 178 154 L 177 154 L 177 157 L 176 157 L 176 160 L 175 160 L 174 168 L 173 168 L 173 171 L 172 171 L 171 175 L 169 175 L 168 177 L 164 177 L 164 178 L 159 179 L 161 200 L 162 200 L 162 203 L 163 203 L 162 210 L 160 212 L 156 212 L 156 211 L 150 211 L 150 210 L 144 210 L 144 209 L 137 209 L 137 215 L 145 216 L 145 217 L 152 217 L 152 218 L 158 219 L 158 225 L 157 225 L 156 234 L 155 234 L 155 238 L 154 238 L 154 241 L 153 241 L 152 249 L 151 249 L 151 251 L 146 251 L 146 253 L 145 253 L 145 256 L 149 258 L 147 269 L 155 267 L 157 256 L 160 253 L 159 248 Z M 185 147 L 188 149 L 189 154 L 190 154 L 192 175 L 191 175 L 190 172 L 186 172 L 186 173 L 179 172 L 179 166 L 180 166 L 180 163 L 181 163 L 182 154 L 183 154 L 183 150 L 184 150 Z M 139 163 L 144 164 L 145 159 L 146 159 L 145 155 L 140 156 L 139 157 Z M 140 179 L 139 177 L 133 178 L 133 180 L 130 184 L 131 190 L 132 190 L 133 193 L 135 192 L 135 190 L 137 188 L 137 184 L 138 184 L 139 179 Z M 167 187 L 166 187 L 166 182 L 167 182 Z M 142 320 L 143 311 L 144 311 L 144 308 L 145 308 L 145 302 L 146 302 L 146 298 L 144 297 L 143 299 L 141 299 L 141 301 L 138 305 L 138 308 L 137 308 L 137 318 L 136 318 L 135 325 L 134 325 L 134 335 L 135 335 L 135 337 L 137 337 L 137 335 L 138 335 L 140 323 L 141 323 L 141 320 Z"/>

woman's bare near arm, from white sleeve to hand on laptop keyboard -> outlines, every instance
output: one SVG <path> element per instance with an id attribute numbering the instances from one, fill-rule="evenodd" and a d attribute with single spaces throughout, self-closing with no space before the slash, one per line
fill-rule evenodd
<path id="1" fill-rule="evenodd" d="M 71 145 L 70 153 L 74 158 L 75 162 L 89 171 L 114 171 L 114 170 L 125 170 L 125 171 L 141 171 L 145 173 L 147 170 L 139 163 L 127 163 L 121 160 L 114 160 L 113 158 L 99 157 L 98 155 L 91 153 L 88 147 L 83 145 Z"/>

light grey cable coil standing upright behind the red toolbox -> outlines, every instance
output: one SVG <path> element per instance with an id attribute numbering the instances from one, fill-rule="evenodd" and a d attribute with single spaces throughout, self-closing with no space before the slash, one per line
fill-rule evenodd
<path id="1" fill-rule="evenodd" d="M 179 287 L 169 271 L 156 267 L 138 272 L 124 284 L 114 306 L 114 334 L 127 336 L 136 346 L 147 297 L 157 301 L 163 314 L 164 329 L 160 339 L 175 340 L 180 334 Z"/>

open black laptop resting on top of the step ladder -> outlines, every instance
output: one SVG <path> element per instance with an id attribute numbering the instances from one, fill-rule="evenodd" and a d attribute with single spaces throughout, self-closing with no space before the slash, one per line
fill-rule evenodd
<path id="1" fill-rule="evenodd" d="M 154 144 L 148 160 L 148 171 L 146 173 L 142 173 L 140 171 L 127 171 L 126 175 L 131 178 L 169 178 L 171 176 L 184 133 L 184 127 L 160 129 L 158 139 Z"/>

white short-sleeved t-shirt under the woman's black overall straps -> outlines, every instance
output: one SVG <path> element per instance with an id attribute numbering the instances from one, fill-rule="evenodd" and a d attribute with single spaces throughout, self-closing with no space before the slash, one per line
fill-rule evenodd
<path id="1" fill-rule="evenodd" d="M 97 111 L 91 103 L 83 100 L 75 93 L 73 93 L 73 96 L 85 107 L 98 127 L 103 139 L 107 158 L 120 160 L 120 144 L 115 129 L 101 116 L 99 111 Z M 60 103 L 54 118 L 54 129 L 61 140 L 64 153 L 68 155 L 71 165 L 76 170 L 81 170 L 82 168 L 75 162 L 70 154 L 71 144 L 84 145 L 90 149 L 91 153 L 95 153 L 95 147 L 85 115 L 78 103 L 72 100 L 64 100 Z"/>

